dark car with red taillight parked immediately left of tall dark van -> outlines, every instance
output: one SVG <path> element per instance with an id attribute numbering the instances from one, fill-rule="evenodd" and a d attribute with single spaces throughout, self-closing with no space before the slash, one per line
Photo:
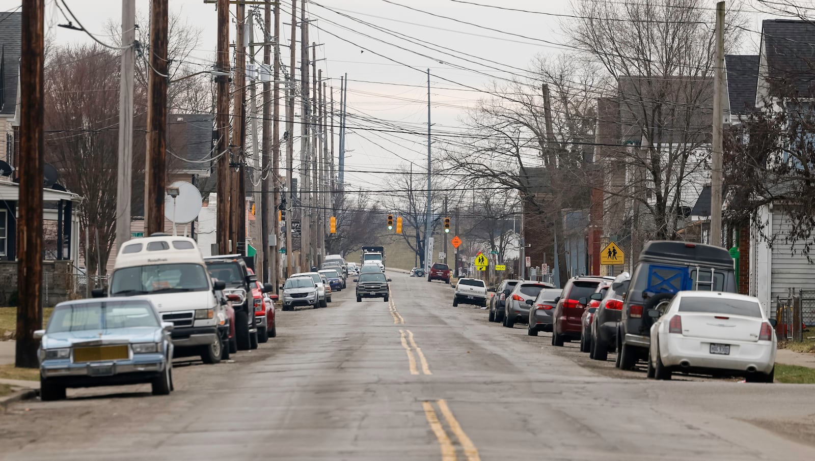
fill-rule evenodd
<path id="1" fill-rule="evenodd" d="M 617 348 L 617 327 L 623 312 L 623 296 L 628 292 L 630 282 L 631 274 L 628 272 L 619 274 L 597 306 L 592 322 L 592 340 L 588 355 L 594 360 L 606 360 L 608 354 Z M 593 294 L 592 298 L 596 299 L 597 293 Z"/>

